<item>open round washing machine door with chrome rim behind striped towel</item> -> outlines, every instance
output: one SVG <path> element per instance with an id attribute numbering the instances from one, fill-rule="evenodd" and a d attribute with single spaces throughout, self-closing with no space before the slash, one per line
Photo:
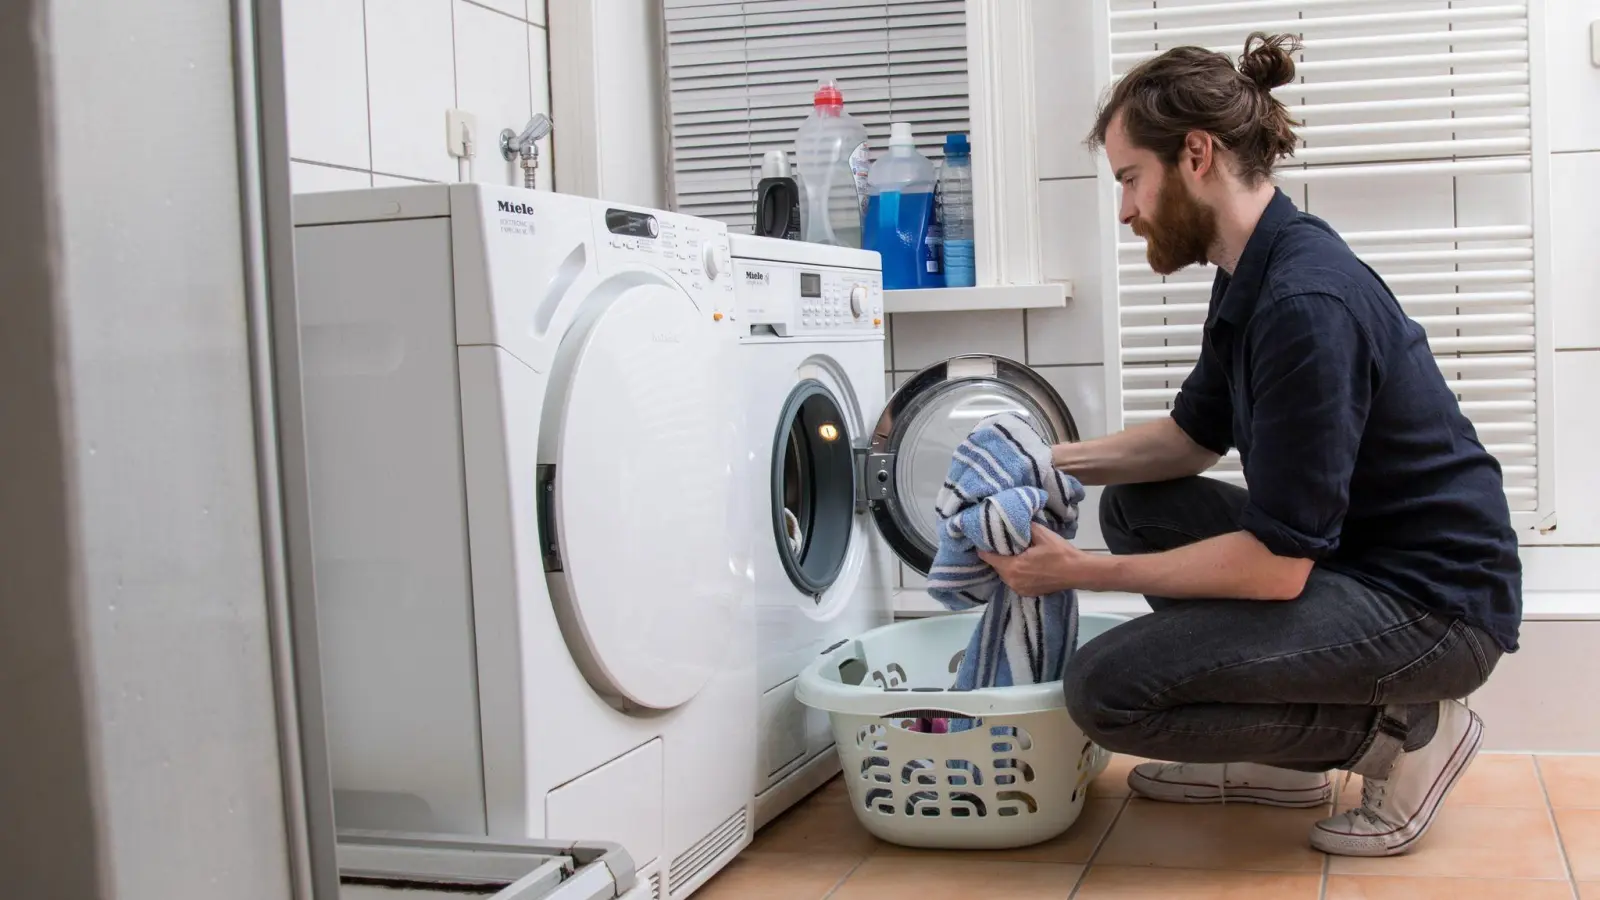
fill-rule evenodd
<path id="1" fill-rule="evenodd" d="M 866 492 L 872 517 L 906 565 L 926 575 L 939 549 L 934 500 L 950 458 L 979 421 L 1014 413 L 1045 440 L 1078 439 L 1061 394 L 1032 368 L 998 356 L 958 356 L 923 368 L 890 397 L 872 431 Z"/>

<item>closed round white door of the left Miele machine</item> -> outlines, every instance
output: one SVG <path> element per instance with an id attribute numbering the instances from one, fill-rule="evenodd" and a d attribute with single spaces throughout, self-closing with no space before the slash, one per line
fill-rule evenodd
<path id="1" fill-rule="evenodd" d="M 552 602 L 584 676 L 627 706 L 688 701 L 728 655 L 726 346 L 675 282 L 632 271 L 589 293 L 555 357 L 539 453 Z"/>

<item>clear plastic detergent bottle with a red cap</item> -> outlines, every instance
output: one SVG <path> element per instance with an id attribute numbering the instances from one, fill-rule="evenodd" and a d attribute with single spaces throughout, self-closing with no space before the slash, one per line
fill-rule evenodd
<path id="1" fill-rule="evenodd" d="M 845 98 L 832 78 L 818 83 L 811 115 L 795 133 L 795 171 L 802 240 L 861 247 L 867 128 L 845 112 Z"/>

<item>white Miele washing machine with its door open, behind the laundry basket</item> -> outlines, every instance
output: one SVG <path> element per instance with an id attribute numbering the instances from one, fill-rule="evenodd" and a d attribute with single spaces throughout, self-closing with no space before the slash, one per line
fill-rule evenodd
<path id="1" fill-rule="evenodd" d="M 755 541 L 758 828 L 838 772 L 827 716 L 795 700 L 795 679 L 838 641 L 893 620 L 899 564 L 926 575 L 934 498 L 960 442 L 1002 412 L 1051 442 L 1078 429 L 1045 378 L 997 356 L 942 360 L 891 392 L 877 253 L 731 242 Z"/>

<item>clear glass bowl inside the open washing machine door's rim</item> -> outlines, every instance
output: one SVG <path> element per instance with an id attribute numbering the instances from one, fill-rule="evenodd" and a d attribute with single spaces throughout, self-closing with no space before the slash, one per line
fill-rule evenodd
<path id="1" fill-rule="evenodd" d="M 906 423 L 894 464 L 894 490 L 906 508 L 912 536 L 930 554 L 939 546 L 934 501 L 950 472 L 950 458 L 979 421 L 998 413 L 1018 415 L 1040 434 L 1051 431 L 1032 402 L 994 381 L 947 383 Z"/>

